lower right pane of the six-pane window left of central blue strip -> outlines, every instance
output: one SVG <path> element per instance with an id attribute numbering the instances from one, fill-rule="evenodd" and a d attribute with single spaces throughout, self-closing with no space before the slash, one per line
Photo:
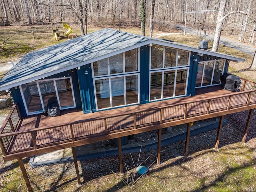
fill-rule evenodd
<path id="1" fill-rule="evenodd" d="M 138 103 L 138 75 L 126 76 L 126 104 Z"/>

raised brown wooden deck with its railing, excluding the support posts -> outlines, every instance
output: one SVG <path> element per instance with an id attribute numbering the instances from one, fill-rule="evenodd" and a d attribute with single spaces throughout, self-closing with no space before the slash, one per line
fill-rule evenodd
<path id="1" fill-rule="evenodd" d="M 241 92 L 214 86 L 196 89 L 195 96 L 91 114 L 66 110 L 57 117 L 21 119 L 14 106 L 0 130 L 3 157 L 12 160 L 256 108 L 255 83 L 241 86 Z"/>

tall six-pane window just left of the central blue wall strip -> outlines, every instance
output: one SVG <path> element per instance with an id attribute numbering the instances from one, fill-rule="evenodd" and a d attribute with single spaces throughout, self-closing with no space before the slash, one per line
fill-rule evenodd
<path id="1" fill-rule="evenodd" d="M 96 109 L 139 102 L 138 49 L 92 63 Z"/>

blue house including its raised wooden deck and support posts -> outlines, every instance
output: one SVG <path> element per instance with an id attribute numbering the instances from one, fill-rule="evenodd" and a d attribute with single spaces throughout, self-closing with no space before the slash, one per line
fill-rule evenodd
<path id="1" fill-rule="evenodd" d="M 194 48 L 113 29 L 102 29 L 26 54 L 1 80 L 16 103 L 0 129 L 4 160 L 18 159 L 32 191 L 22 158 L 158 130 L 160 163 L 162 128 L 253 110 L 256 83 L 242 79 L 240 92 L 220 90 L 220 76 L 229 62 L 244 61 L 227 54 Z M 213 91 L 214 90 L 214 91 Z M 61 115 L 43 117 L 55 100 Z"/>

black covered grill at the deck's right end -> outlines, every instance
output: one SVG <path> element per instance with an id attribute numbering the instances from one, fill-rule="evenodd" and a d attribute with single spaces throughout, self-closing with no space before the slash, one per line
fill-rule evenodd
<path id="1" fill-rule="evenodd" d="M 239 76 L 229 73 L 222 75 L 220 80 L 222 88 L 228 91 L 238 91 L 241 84 Z"/>

